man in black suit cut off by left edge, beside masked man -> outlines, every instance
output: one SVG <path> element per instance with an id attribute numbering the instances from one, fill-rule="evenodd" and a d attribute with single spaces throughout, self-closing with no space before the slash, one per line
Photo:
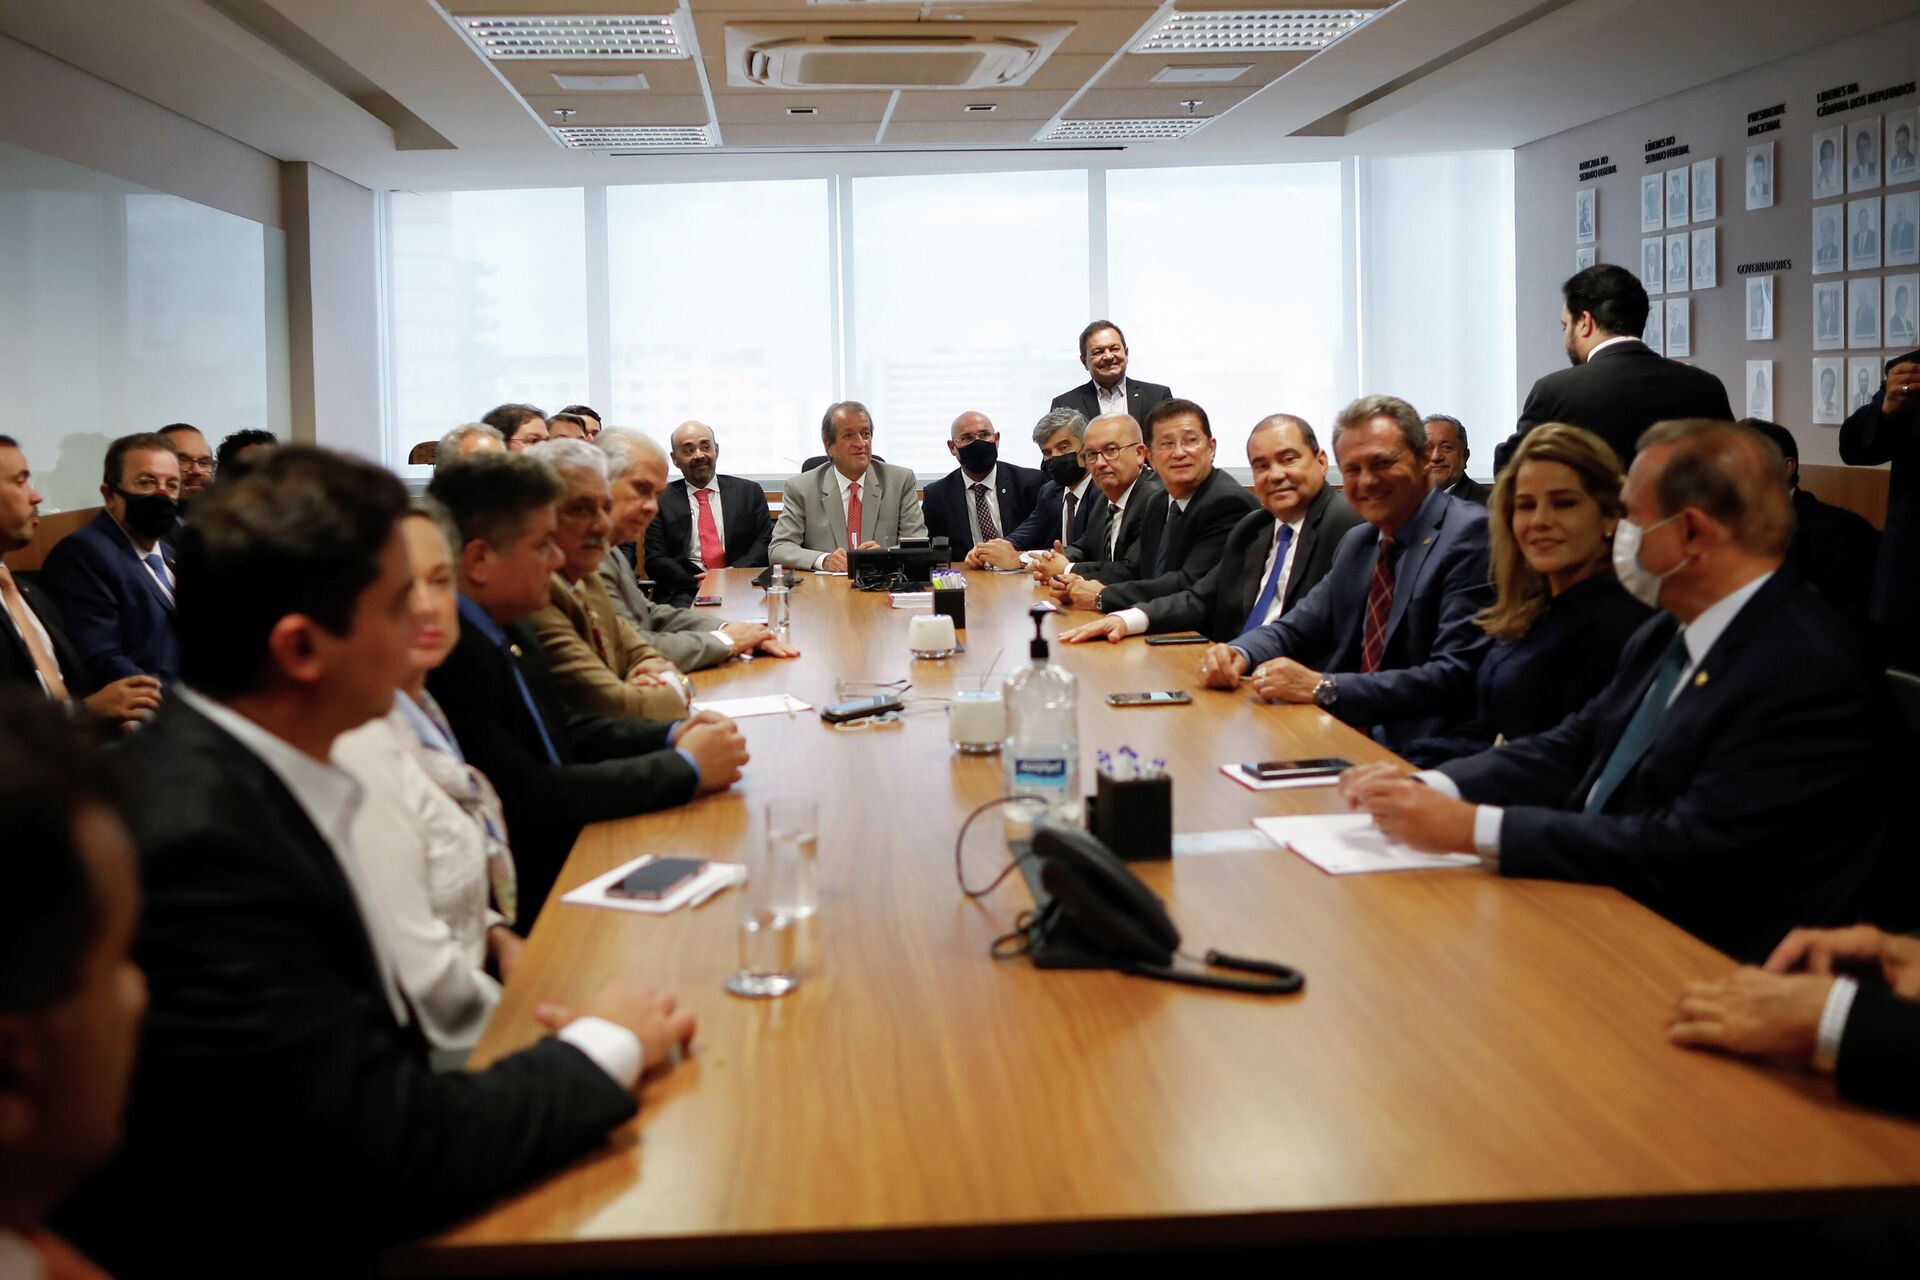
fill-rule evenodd
<path id="1" fill-rule="evenodd" d="M 38 524 L 40 493 L 27 455 L 12 436 L 0 436 L 0 555 L 27 547 Z M 96 689 L 54 601 L 0 564 L 0 687 L 8 685 L 36 689 L 56 702 L 71 699 L 109 723 L 131 725 L 159 706 L 152 676 L 121 676 Z"/>

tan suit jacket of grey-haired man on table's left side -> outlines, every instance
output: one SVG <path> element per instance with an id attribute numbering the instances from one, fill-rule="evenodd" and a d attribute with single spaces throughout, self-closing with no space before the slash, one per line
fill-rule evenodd
<path id="1" fill-rule="evenodd" d="M 540 649 L 553 668 L 561 697 L 601 716 L 639 716 L 643 720 L 682 720 L 687 700 L 680 681 L 672 685 L 630 685 L 626 677 L 649 664 L 664 664 L 659 649 L 639 637 L 626 618 L 612 610 L 612 599 L 599 574 L 588 574 L 574 591 L 559 574 L 547 583 L 547 606 L 526 620 L 540 637 Z M 607 656 L 593 645 L 599 631 Z"/>

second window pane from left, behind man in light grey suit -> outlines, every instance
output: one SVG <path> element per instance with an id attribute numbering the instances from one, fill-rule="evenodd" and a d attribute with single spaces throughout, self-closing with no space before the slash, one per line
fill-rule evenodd
<path id="1" fill-rule="evenodd" d="M 714 428 L 722 464 L 787 476 L 833 399 L 826 180 L 614 186 L 611 422 Z"/>

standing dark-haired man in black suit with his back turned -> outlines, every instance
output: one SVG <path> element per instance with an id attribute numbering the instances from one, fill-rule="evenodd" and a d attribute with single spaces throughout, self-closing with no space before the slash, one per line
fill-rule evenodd
<path id="1" fill-rule="evenodd" d="M 1634 273 L 1599 263 L 1561 286 L 1561 332 L 1572 368 L 1548 374 L 1526 393 L 1521 422 L 1500 449 L 1501 470 L 1521 436 L 1542 422 L 1571 422 L 1594 432 L 1634 461 L 1640 432 L 1674 418 L 1734 420 L 1726 388 L 1705 368 L 1655 355 L 1640 342 L 1647 326 L 1647 290 Z"/>

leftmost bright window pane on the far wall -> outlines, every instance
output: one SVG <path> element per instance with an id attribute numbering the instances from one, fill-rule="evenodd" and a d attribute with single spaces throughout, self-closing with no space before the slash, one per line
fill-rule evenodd
<path id="1" fill-rule="evenodd" d="M 392 255 L 396 461 L 503 401 L 588 397 L 580 188 L 396 192 Z"/>

